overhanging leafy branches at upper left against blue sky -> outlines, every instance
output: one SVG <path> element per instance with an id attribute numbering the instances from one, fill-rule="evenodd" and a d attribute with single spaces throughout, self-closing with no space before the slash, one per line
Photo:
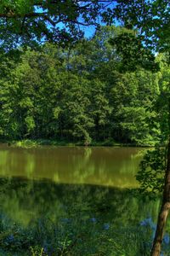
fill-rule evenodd
<path id="1" fill-rule="evenodd" d="M 1 45 L 36 46 L 50 41 L 66 44 L 82 38 L 82 26 L 97 25 L 111 1 L 16 0 L 0 3 Z"/>

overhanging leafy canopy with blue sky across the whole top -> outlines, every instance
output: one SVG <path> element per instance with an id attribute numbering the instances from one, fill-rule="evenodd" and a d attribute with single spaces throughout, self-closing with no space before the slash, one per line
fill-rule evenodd
<path id="1" fill-rule="evenodd" d="M 167 0 L 5 0 L 0 3 L 1 44 L 5 49 L 43 41 L 73 42 L 83 26 L 116 24 L 136 29 L 144 44 L 167 51 L 170 44 Z"/>

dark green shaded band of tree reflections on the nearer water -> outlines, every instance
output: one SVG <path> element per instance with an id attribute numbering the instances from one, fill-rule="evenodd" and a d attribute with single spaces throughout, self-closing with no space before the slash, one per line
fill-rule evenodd
<path id="1" fill-rule="evenodd" d="M 57 185 L 16 178 L 1 179 L 0 183 L 1 212 L 22 224 L 48 217 L 53 220 L 96 218 L 116 226 L 127 226 L 139 223 L 156 209 L 156 203 L 143 202 L 125 189 Z"/>

